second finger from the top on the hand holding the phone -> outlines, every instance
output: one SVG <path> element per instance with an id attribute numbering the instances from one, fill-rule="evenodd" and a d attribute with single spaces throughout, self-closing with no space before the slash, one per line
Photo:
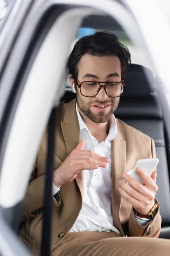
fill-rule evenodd
<path id="1" fill-rule="evenodd" d="M 125 172 L 122 174 L 122 178 L 125 179 L 140 194 L 144 195 L 149 200 L 153 200 L 154 195 L 153 192 L 150 191 L 150 189 L 143 186 L 141 183 L 130 177 L 130 175 Z"/>

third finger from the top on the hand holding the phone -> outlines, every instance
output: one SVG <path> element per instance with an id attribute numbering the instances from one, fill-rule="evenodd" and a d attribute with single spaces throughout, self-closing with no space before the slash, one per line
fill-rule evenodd
<path id="1" fill-rule="evenodd" d="M 138 201 L 147 201 L 147 198 L 143 194 L 139 193 L 136 189 L 129 186 L 127 183 L 125 183 L 124 180 L 119 180 L 119 186 L 121 186 L 130 196 L 137 199 Z"/>

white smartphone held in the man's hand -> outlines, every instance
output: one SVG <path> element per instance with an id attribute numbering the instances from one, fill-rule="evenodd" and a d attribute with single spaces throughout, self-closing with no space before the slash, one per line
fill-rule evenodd
<path id="1" fill-rule="evenodd" d="M 133 179 L 137 180 L 142 185 L 145 185 L 142 177 L 140 177 L 139 174 L 136 172 L 136 168 L 141 167 L 144 170 L 144 172 L 146 172 L 148 175 L 151 176 L 153 171 L 156 169 L 156 166 L 158 163 L 159 163 L 158 158 L 140 159 L 136 162 L 136 165 L 133 168 L 133 171 L 132 171 L 130 177 L 133 177 Z M 127 182 L 127 184 L 129 184 L 129 183 Z"/>

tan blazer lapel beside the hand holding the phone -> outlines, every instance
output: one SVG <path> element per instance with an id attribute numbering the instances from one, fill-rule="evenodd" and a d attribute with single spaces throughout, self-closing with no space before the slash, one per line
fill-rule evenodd
<path id="1" fill-rule="evenodd" d="M 122 140 L 119 129 L 117 137 L 112 140 L 111 161 L 113 225 L 125 236 L 120 220 L 122 196 L 118 188 L 119 180 L 126 167 L 126 142 Z"/>

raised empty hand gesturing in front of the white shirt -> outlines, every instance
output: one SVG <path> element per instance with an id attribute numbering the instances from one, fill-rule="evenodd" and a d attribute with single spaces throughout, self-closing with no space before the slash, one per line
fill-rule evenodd
<path id="1" fill-rule="evenodd" d="M 101 157 L 90 150 L 84 150 L 85 141 L 80 140 L 77 148 L 65 159 L 65 161 L 54 171 L 53 182 L 60 188 L 62 185 L 70 183 L 82 170 L 98 169 L 106 167 L 109 162 L 108 157 Z"/>

